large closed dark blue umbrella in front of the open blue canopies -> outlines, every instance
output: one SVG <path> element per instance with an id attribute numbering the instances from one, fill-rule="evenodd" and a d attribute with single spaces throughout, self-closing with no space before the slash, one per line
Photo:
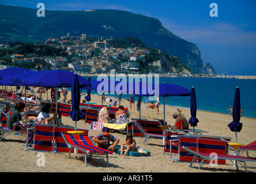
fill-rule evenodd
<path id="1" fill-rule="evenodd" d="M 85 114 L 79 109 L 80 106 L 80 88 L 78 82 L 78 75 L 73 75 L 73 83 L 71 85 L 71 105 L 70 117 L 73 121 L 79 121 Z"/>

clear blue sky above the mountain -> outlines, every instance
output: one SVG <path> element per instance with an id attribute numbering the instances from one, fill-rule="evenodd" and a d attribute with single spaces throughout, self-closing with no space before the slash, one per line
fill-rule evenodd
<path id="1" fill-rule="evenodd" d="M 159 19 L 177 36 L 197 44 L 202 59 L 229 75 L 256 75 L 256 1 L 254 0 L 1 0 L 2 5 L 46 10 L 117 9 Z M 217 3 L 218 17 L 210 17 Z M 47 15 L 46 15 L 47 16 Z"/>

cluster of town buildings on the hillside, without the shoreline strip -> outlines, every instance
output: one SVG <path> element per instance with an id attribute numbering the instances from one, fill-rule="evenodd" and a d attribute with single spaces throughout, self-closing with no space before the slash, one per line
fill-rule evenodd
<path id="1" fill-rule="evenodd" d="M 111 38 L 112 39 L 112 38 Z M 88 39 L 86 34 L 81 34 L 81 37 L 62 36 L 60 39 L 52 37 L 44 41 L 44 44 L 53 48 L 62 48 L 70 56 L 70 60 L 66 56 L 38 56 L 36 53 L 12 54 L 10 55 L 12 63 L 21 62 L 36 62 L 44 61 L 50 64 L 51 70 L 67 70 L 76 71 L 84 74 L 101 74 L 109 73 L 110 70 L 125 74 L 137 74 L 140 64 L 135 62 L 138 59 L 143 59 L 146 54 L 150 53 L 147 48 L 114 48 L 109 47 L 107 41 L 103 37 L 97 39 Z M 1 44 L 0 49 L 8 47 L 6 44 Z M 16 46 L 17 47 L 17 46 Z M 161 52 L 157 50 L 157 52 Z M 5 65 L 4 60 L 0 60 L 0 69 L 13 67 Z M 37 64 L 32 70 L 47 70 L 47 65 Z"/>

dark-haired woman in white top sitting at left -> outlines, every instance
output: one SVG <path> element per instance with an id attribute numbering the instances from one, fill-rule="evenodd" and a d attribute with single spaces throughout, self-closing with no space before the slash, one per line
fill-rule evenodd
<path id="1" fill-rule="evenodd" d="M 42 105 L 41 112 L 38 114 L 36 118 L 36 122 L 43 124 L 52 124 L 52 120 L 57 120 L 57 113 L 54 113 L 53 117 L 50 117 L 50 112 L 52 109 L 51 103 L 46 103 Z"/>

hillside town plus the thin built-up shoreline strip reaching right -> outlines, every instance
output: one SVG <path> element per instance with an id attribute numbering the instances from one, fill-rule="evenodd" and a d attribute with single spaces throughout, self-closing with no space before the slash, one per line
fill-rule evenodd
<path id="1" fill-rule="evenodd" d="M 77 72 L 78 74 L 110 74 L 114 71 L 115 74 L 139 74 L 145 67 L 141 66 L 140 60 L 144 60 L 146 55 L 154 52 L 155 54 L 163 53 L 160 49 L 152 49 L 144 47 L 112 47 L 103 37 L 87 37 L 86 34 L 81 34 L 80 37 L 62 36 L 59 39 L 48 38 L 43 45 L 48 45 L 51 48 L 61 49 L 65 53 L 60 55 L 43 55 L 39 56 L 36 53 L 25 54 L 10 54 L 10 62 L 1 59 L 0 70 L 10 67 L 17 67 L 17 64 L 34 63 L 30 70 L 66 70 Z M 37 43 L 38 44 L 38 43 Z M 21 45 L 16 45 L 19 47 Z M 7 43 L 0 43 L 1 49 L 9 48 Z M 176 56 L 171 56 L 172 59 L 178 59 Z M 3 57 L 2 57 L 3 58 Z M 37 63 L 37 64 L 35 64 Z M 43 63 L 43 64 L 42 64 Z M 160 60 L 154 60 L 152 63 L 146 63 L 151 69 L 148 74 L 160 74 L 160 76 L 182 76 L 182 77 L 213 77 L 213 78 L 244 78 L 244 76 L 231 76 L 228 74 L 222 75 L 204 75 L 204 74 L 185 74 L 183 72 L 160 72 Z M 24 67 L 25 68 L 25 67 Z"/>

